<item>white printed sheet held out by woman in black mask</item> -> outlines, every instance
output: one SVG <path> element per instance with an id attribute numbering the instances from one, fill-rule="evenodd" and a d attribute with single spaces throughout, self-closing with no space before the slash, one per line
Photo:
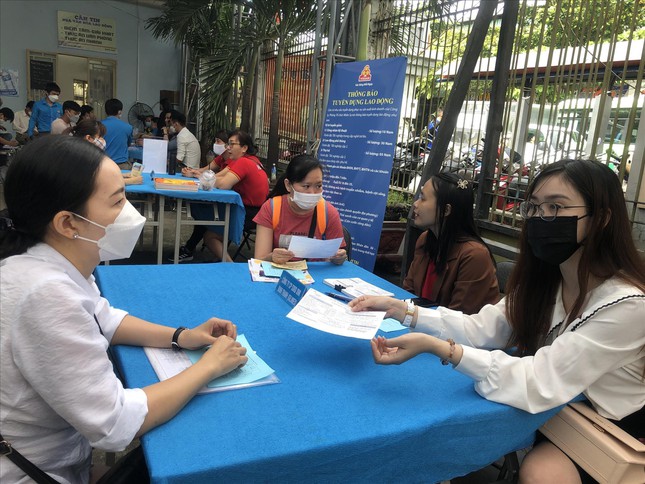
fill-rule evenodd
<path id="1" fill-rule="evenodd" d="M 326 333 L 372 339 L 385 317 L 385 311 L 355 313 L 347 304 L 309 289 L 287 317 Z"/>

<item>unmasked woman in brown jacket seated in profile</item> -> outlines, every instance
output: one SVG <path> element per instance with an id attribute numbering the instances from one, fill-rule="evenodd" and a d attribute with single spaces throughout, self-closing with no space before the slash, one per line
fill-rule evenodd
<path id="1" fill-rule="evenodd" d="M 499 300 L 495 262 L 473 217 L 473 183 L 454 173 L 431 177 L 414 202 L 417 240 L 403 288 L 466 314 Z"/>

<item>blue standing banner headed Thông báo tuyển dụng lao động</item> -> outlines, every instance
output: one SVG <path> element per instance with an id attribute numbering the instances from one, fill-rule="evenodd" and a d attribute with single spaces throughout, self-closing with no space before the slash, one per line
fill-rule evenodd
<path id="1" fill-rule="evenodd" d="M 371 270 L 383 225 L 406 59 L 334 67 L 318 157 L 325 198 L 352 234 L 352 259 Z"/>

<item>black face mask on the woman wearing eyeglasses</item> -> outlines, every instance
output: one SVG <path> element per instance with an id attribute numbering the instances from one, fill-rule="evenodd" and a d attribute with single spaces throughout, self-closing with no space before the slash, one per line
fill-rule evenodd
<path id="1" fill-rule="evenodd" d="M 533 255 L 547 264 L 562 264 L 580 247 L 578 220 L 576 216 L 556 217 L 551 222 L 540 217 L 528 219 L 526 230 Z"/>

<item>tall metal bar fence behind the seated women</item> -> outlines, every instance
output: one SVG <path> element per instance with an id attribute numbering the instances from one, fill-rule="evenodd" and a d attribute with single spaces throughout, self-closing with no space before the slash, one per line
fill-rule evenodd
<path id="1" fill-rule="evenodd" d="M 375 57 L 404 55 L 408 70 L 393 158 L 391 189 L 414 193 L 441 129 L 441 108 L 457 73 L 477 2 L 381 1 L 371 25 Z M 502 3 L 491 22 L 470 89 L 457 116 L 442 169 L 478 180 L 497 61 Z M 514 233 L 518 200 L 546 163 L 565 157 L 608 164 L 625 188 L 635 239 L 645 244 L 645 8 L 640 0 L 521 0 L 492 206 L 480 222 Z M 281 158 L 304 150 L 309 69 L 316 33 L 302 36 L 285 57 L 281 90 Z M 319 34 L 318 34 L 319 35 Z M 323 72 L 321 62 L 321 83 Z M 268 133 L 274 53 L 263 53 L 256 133 Z M 314 108 L 315 109 L 315 108 Z M 478 199 L 477 203 L 481 203 Z"/>

